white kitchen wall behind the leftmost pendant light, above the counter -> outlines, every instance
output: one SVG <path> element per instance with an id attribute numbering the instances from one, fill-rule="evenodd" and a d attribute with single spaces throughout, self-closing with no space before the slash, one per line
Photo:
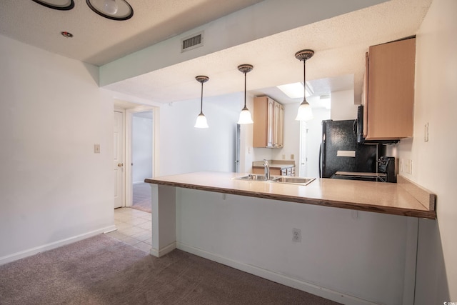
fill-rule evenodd
<path id="1" fill-rule="evenodd" d="M 192 171 L 235 171 L 240 94 L 204 96 L 208 129 L 195 128 L 200 99 L 161 106 L 159 176 Z"/>

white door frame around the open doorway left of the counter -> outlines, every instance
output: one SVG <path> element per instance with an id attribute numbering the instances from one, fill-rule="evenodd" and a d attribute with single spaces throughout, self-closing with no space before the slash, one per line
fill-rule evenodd
<path id="1" fill-rule="evenodd" d="M 126 206 L 132 205 L 133 200 L 133 188 L 132 188 L 132 151 L 131 151 L 131 133 L 132 133 L 132 122 L 133 114 L 137 112 L 152 111 L 152 177 L 154 178 L 159 174 L 159 149 L 156 143 L 159 143 L 159 107 L 139 105 L 131 109 L 125 109 L 125 202 Z"/>

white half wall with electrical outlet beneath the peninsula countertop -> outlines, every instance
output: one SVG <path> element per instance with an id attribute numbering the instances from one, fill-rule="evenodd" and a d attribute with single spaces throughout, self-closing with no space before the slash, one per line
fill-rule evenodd
<path id="1" fill-rule="evenodd" d="M 179 249 L 342 304 L 412 304 L 416 240 L 411 217 L 176 189 Z"/>

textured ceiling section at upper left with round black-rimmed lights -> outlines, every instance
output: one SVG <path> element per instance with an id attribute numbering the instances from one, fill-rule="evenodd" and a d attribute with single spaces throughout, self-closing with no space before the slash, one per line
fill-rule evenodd
<path id="1" fill-rule="evenodd" d="M 134 16 L 103 18 L 84 0 L 49 9 L 31 0 L 0 1 L 0 34 L 56 54 L 101 66 L 261 0 L 129 0 Z M 74 34 L 64 39 L 61 31 Z"/>

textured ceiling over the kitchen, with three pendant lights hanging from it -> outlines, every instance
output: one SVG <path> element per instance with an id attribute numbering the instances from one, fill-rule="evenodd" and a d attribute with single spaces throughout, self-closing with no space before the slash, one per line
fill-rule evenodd
<path id="1" fill-rule="evenodd" d="M 205 84 L 205 96 L 231 94 L 243 89 L 243 75 L 236 66 L 253 64 L 253 71 L 247 74 L 251 94 L 268 94 L 282 103 L 296 103 L 300 99 L 288 99 L 276 86 L 303 81 L 303 64 L 294 54 L 301 49 L 313 49 L 314 56 L 306 61 L 306 80 L 316 89 L 316 97 L 330 91 L 354 89 L 355 101 L 360 102 L 368 46 L 416 34 L 430 4 L 431 0 L 387 1 L 151 71 L 106 88 L 164 103 L 196 99 L 200 91 L 194 77 L 204 74 L 210 77 Z M 318 106 L 312 99 L 310 104 Z"/>

